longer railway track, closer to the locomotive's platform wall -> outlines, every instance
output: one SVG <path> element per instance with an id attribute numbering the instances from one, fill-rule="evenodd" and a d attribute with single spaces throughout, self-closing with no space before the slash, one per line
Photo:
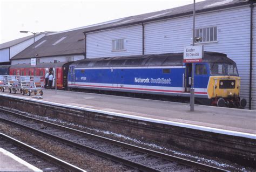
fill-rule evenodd
<path id="1" fill-rule="evenodd" d="M 226 171 L 0 109 L 0 120 L 142 171 Z"/>

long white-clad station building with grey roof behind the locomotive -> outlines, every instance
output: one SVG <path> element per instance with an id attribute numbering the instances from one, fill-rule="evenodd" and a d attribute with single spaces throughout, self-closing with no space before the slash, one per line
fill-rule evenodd
<path id="1" fill-rule="evenodd" d="M 196 3 L 196 37 L 205 51 L 227 54 L 237 63 L 241 97 L 256 109 L 255 2 L 239 0 Z M 35 44 L 38 63 L 84 58 L 183 52 L 192 45 L 193 4 L 49 33 Z M 11 58 L 30 63 L 33 46 Z"/>

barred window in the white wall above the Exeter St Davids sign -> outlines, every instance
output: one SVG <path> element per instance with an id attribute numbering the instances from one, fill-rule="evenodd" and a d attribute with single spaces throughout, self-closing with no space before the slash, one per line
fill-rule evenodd
<path id="1" fill-rule="evenodd" d="M 195 36 L 201 37 L 197 43 L 208 43 L 217 41 L 217 26 L 195 29 Z"/>

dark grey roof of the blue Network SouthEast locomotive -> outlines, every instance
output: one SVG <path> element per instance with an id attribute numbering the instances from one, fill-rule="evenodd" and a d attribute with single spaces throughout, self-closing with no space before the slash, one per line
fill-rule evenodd
<path id="1" fill-rule="evenodd" d="M 203 62 L 234 63 L 226 54 L 204 52 Z M 76 67 L 114 67 L 114 66 L 181 66 L 183 53 L 147 54 L 140 56 L 107 57 L 78 60 L 71 64 Z"/>

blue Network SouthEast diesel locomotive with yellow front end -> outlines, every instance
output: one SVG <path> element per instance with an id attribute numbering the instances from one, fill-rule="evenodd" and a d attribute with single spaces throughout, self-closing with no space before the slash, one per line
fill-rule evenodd
<path id="1" fill-rule="evenodd" d="M 226 54 L 204 52 L 200 63 L 183 63 L 183 53 L 78 60 L 70 64 L 68 88 L 189 97 L 192 65 L 194 93 L 201 102 L 245 107 L 237 65 Z"/>

